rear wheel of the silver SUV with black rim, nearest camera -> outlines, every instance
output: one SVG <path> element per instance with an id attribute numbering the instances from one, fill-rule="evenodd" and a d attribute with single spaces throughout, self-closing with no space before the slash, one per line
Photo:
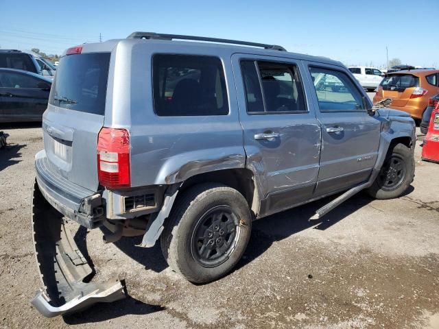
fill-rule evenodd
<path id="1" fill-rule="evenodd" d="M 222 184 L 200 184 L 177 200 L 161 235 L 168 265 L 194 283 L 226 275 L 250 239 L 252 217 L 241 193 Z"/>

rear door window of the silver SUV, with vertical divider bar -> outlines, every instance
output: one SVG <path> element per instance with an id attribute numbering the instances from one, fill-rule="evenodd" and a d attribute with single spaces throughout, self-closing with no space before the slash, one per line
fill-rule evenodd
<path id="1" fill-rule="evenodd" d="M 278 62 L 242 61 L 247 112 L 306 112 L 297 66 Z"/>

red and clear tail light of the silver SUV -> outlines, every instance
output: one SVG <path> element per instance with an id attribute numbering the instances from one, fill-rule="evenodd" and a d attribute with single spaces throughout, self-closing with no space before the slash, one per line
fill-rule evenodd
<path id="1" fill-rule="evenodd" d="M 126 129 L 103 127 L 97 139 L 99 184 L 108 188 L 129 187 L 130 134 Z"/>

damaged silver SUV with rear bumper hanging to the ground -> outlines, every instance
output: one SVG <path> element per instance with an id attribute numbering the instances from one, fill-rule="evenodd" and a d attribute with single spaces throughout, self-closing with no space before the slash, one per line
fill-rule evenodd
<path id="1" fill-rule="evenodd" d="M 172 269 L 206 283 L 235 267 L 254 219 L 343 192 L 318 219 L 364 189 L 399 197 L 414 177 L 408 114 L 372 109 L 340 62 L 253 42 L 135 32 L 67 49 L 43 134 L 32 304 L 45 316 L 123 298 L 119 281 L 84 282 L 63 218 L 104 226 L 107 243 L 160 240 Z"/>

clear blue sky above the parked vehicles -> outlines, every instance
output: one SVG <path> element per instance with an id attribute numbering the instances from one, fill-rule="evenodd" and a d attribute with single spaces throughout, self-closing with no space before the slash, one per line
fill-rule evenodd
<path id="1" fill-rule="evenodd" d="M 27 9 L 26 9 L 27 8 Z M 0 47 L 45 53 L 134 31 L 230 38 L 288 51 L 385 65 L 439 67 L 439 0 L 12 1 L 0 0 Z"/>

